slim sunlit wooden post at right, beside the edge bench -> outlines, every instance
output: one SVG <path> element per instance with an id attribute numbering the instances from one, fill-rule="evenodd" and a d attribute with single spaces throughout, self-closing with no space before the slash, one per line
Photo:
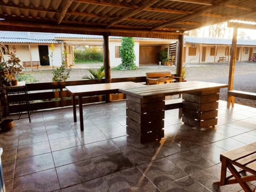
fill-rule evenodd
<path id="1" fill-rule="evenodd" d="M 230 64 L 229 64 L 229 77 L 228 77 L 228 91 L 233 90 L 234 84 L 234 72 L 235 72 L 235 62 L 236 62 L 236 43 L 237 43 L 237 27 L 234 27 L 232 46 L 231 46 L 231 55 L 230 55 Z M 228 108 L 234 107 L 235 97 L 228 95 Z"/>

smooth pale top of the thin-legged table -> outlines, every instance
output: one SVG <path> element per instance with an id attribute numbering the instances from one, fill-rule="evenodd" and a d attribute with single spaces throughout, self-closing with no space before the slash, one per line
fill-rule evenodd
<path id="1" fill-rule="evenodd" d="M 75 95 L 97 95 L 107 94 L 109 92 L 119 92 L 119 89 L 129 89 L 134 87 L 147 86 L 141 83 L 135 82 L 117 82 L 117 83 L 99 83 L 88 85 L 74 85 L 66 86 L 66 89 Z"/>

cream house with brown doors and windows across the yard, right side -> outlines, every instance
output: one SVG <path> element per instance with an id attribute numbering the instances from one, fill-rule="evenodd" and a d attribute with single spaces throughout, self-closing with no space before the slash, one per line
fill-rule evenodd
<path id="1" fill-rule="evenodd" d="M 185 37 L 184 43 L 184 62 L 215 63 L 230 61 L 231 39 Z M 256 54 L 255 47 L 256 40 L 237 39 L 236 61 L 249 61 Z"/>

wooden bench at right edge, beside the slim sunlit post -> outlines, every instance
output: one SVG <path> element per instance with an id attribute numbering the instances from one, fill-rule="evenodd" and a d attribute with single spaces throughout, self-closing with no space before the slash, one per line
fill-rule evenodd
<path id="1" fill-rule="evenodd" d="M 232 97 L 256 100 L 256 93 L 237 90 L 228 91 L 228 108 L 230 107 L 230 103 L 232 104 L 232 107 L 234 107 L 235 98 Z"/>

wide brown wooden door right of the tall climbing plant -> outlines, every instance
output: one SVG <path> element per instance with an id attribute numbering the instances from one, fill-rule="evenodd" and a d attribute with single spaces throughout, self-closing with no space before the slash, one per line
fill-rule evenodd
<path id="1" fill-rule="evenodd" d="M 161 46 L 140 46 L 140 64 L 158 64 L 158 52 Z"/>

